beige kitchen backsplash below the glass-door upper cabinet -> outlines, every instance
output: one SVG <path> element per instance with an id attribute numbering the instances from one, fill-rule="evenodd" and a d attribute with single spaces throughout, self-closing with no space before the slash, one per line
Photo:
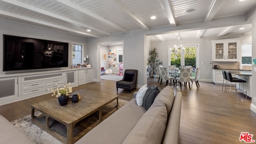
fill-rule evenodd
<path id="1" fill-rule="evenodd" d="M 219 69 L 239 70 L 239 62 L 212 62 L 212 68 L 218 65 Z"/>

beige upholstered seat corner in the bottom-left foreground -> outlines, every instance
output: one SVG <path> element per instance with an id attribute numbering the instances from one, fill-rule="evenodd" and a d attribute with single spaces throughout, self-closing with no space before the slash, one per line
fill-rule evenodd
<path id="1" fill-rule="evenodd" d="M 28 136 L 0 115 L 1 144 L 34 144 Z"/>

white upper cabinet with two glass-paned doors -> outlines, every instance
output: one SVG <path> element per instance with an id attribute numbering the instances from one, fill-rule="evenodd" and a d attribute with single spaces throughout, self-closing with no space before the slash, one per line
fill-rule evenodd
<path id="1" fill-rule="evenodd" d="M 212 40 L 212 61 L 238 62 L 240 39 Z"/>

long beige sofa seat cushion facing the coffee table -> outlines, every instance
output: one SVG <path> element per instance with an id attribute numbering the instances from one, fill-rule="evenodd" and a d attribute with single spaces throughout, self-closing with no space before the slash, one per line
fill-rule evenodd
<path id="1" fill-rule="evenodd" d="M 145 112 L 133 98 L 85 134 L 76 144 L 122 144 Z"/>

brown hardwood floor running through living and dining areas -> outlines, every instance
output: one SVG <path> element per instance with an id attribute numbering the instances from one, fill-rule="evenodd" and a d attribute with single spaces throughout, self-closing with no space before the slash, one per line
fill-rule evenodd
<path id="1" fill-rule="evenodd" d="M 156 84 L 160 90 L 165 87 L 165 81 L 158 82 L 158 78 L 149 78 L 148 85 Z M 188 86 L 174 86 L 174 92 L 182 92 L 182 111 L 180 120 L 179 144 L 240 144 L 241 132 L 253 134 L 256 140 L 256 114 L 250 110 L 251 100 L 240 95 L 233 89 L 228 96 L 222 91 L 222 85 L 209 82 L 199 82 Z M 170 85 L 170 84 L 169 84 Z M 173 86 L 173 85 L 172 85 Z M 131 100 L 134 90 L 118 89 L 116 82 L 101 80 L 73 88 L 86 89 L 98 94 L 118 94 L 120 99 Z M 228 91 L 229 92 L 229 91 Z M 31 113 L 31 104 L 52 98 L 45 94 L 35 98 L 14 102 L 1 106 L 2 115 L 9 121 L 22 118 Z"/>

